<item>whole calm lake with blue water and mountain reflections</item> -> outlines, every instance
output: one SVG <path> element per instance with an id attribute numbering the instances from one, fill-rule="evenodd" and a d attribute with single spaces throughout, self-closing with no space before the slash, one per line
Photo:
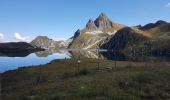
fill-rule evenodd
<path id="1" fill-rule="evenodd" d="M 55 59 L 71 59 L 71 58 L 92 58 L 92 59 L 106 59 L 116 61 L 141 61 L 141 62 L 169 62 L 165 57 L 129 57 L 123 54 L 115 54 L 114 52 L 96 50 L 46 50 L 31 54 L 8 54 L 0 55 L 0 73 L 9 70 L 15 70 L 19 67 L 27 67 L 32 65 L 47 64 Z M 169 65 L 168 65 L 169 66 Z"/>

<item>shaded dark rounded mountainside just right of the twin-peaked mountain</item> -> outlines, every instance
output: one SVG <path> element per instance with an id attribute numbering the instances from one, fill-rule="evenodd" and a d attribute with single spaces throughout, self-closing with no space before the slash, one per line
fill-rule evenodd
<path id="1" fill-rule="evenodd" d="M 101 48 L 119 51 L 129 48 L 134 44 L 141 45 L 141 43 L 147 40 L 148 37 L 142 33 L 130 27 L 125 27 L 119 30 L 110 40 L 105 42 Z"/>

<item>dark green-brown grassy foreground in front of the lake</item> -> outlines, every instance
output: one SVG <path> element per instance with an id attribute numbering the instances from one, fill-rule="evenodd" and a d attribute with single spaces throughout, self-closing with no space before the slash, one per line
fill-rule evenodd
<path id="1" fill-rule="evenodd" d="M 4 73 L 3 100 L 168 100 L 170 67 L 160 62 L 53 61 Z M 168 63 L 168 62 L 167 62 Z M 108 69 L 111 68 L 111 69 Z M 41 76 L 41 81 L 37 78 Z"/>

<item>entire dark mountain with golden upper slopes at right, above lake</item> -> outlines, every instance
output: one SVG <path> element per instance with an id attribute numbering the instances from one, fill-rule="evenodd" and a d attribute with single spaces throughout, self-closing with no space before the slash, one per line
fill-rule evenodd
<path id="1" fill-rule="evenodd" d="M 128 54 L 170 55 L 170 24 L 165 21 L 145 26 L 125 27 L 101 46 Z"/>

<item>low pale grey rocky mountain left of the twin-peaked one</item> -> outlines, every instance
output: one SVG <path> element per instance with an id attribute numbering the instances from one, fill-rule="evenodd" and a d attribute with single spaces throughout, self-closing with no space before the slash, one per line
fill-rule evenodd
<path id="1" fill-rule="evenodd" d="M 41 47 L 44 49 L 49 49 L 49 48 L 61 49 L 61 48 L 67 48 L 71 41 L 72 40 L 70 39 L 66 41 L 54 41 L 48 38 L 47 36 L 38 36 L 31 42 L 31 45 L 35 47 Z"/>

